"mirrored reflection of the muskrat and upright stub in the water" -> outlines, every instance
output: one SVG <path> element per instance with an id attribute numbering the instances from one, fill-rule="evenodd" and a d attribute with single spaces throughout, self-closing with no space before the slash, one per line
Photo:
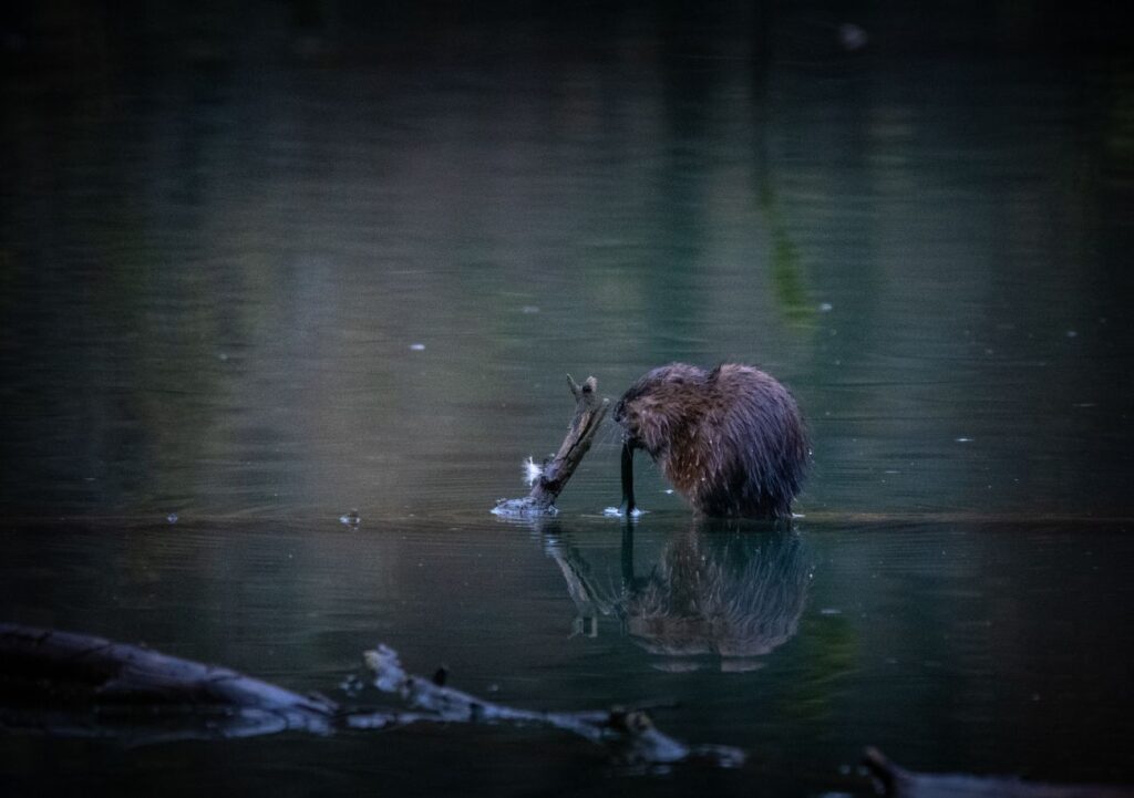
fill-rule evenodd
<path id="1" fill-rule="evenodd" d="M 702 667 L 718 656 L 723 670 L 759 667 L 760 657 L 798 630 L 811 567 L 798 535 L 696 523 L 670 540 L 645 576 L 634 568 L 634 532 L 624 532 L 621 586 L 591 574 L 574 547 L 549 546 L 578 610 L 576 631 L 598 634 L 598 616 L 623 620 L 659 667 Z"/>

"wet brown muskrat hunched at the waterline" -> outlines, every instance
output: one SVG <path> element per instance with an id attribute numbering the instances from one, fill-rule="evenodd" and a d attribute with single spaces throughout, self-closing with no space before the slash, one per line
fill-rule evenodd
<path id="1" fill-rule="evenodd" d="M 623 509 L 634 502 L 634 450 L 708 516 L 789 518 L 807 466 L 795 399 L 752 366 L 711 372 L 671 363 L 631 385 L 615 406 L 623 441 Z"/>

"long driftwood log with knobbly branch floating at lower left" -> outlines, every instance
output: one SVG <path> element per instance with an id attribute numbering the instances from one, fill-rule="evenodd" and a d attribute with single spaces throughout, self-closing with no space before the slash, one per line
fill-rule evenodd
<path id="1" fill-rule="evenodd" d="M 445 687 L 440 674 L 407 673 L 386 646 L 365 652 L 364 660 L 374 687 L 408 708 L 348 706 L 139 646 L 0 623 L 0 730 L 147 745 L 423 722 L 539 725 L 578 735 L 625 764 L 689 761 L 728 767 L 744 761 L 735 748 L 680 742 L 659 731 L 642 710 L 533 712 Z"/>

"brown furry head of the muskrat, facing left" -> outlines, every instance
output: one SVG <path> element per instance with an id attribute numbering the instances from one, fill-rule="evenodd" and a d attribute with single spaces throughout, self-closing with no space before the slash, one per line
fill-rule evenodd
<path id="1" fill-rule="evenodd" d="M 696 366 L 671 363 L 631 385 L 615 405 L 615 422 L 625 430 L 626 443 L 645 449 L 654 459 L 663 457 L 696 408 L 689 399 L 704 385 L 705 376 Z"/>

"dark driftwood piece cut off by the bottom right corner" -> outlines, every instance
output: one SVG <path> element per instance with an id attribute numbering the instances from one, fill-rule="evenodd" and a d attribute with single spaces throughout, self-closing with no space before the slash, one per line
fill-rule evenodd
<path id="1" fill-rule="evenodd" d="M 898 767 L 877 748 L 863 764 L 889 798 L 1134 798 L 1134 788 L 1094 784 L 1044 784 L 1007 776 L 914 773 Z"/>

